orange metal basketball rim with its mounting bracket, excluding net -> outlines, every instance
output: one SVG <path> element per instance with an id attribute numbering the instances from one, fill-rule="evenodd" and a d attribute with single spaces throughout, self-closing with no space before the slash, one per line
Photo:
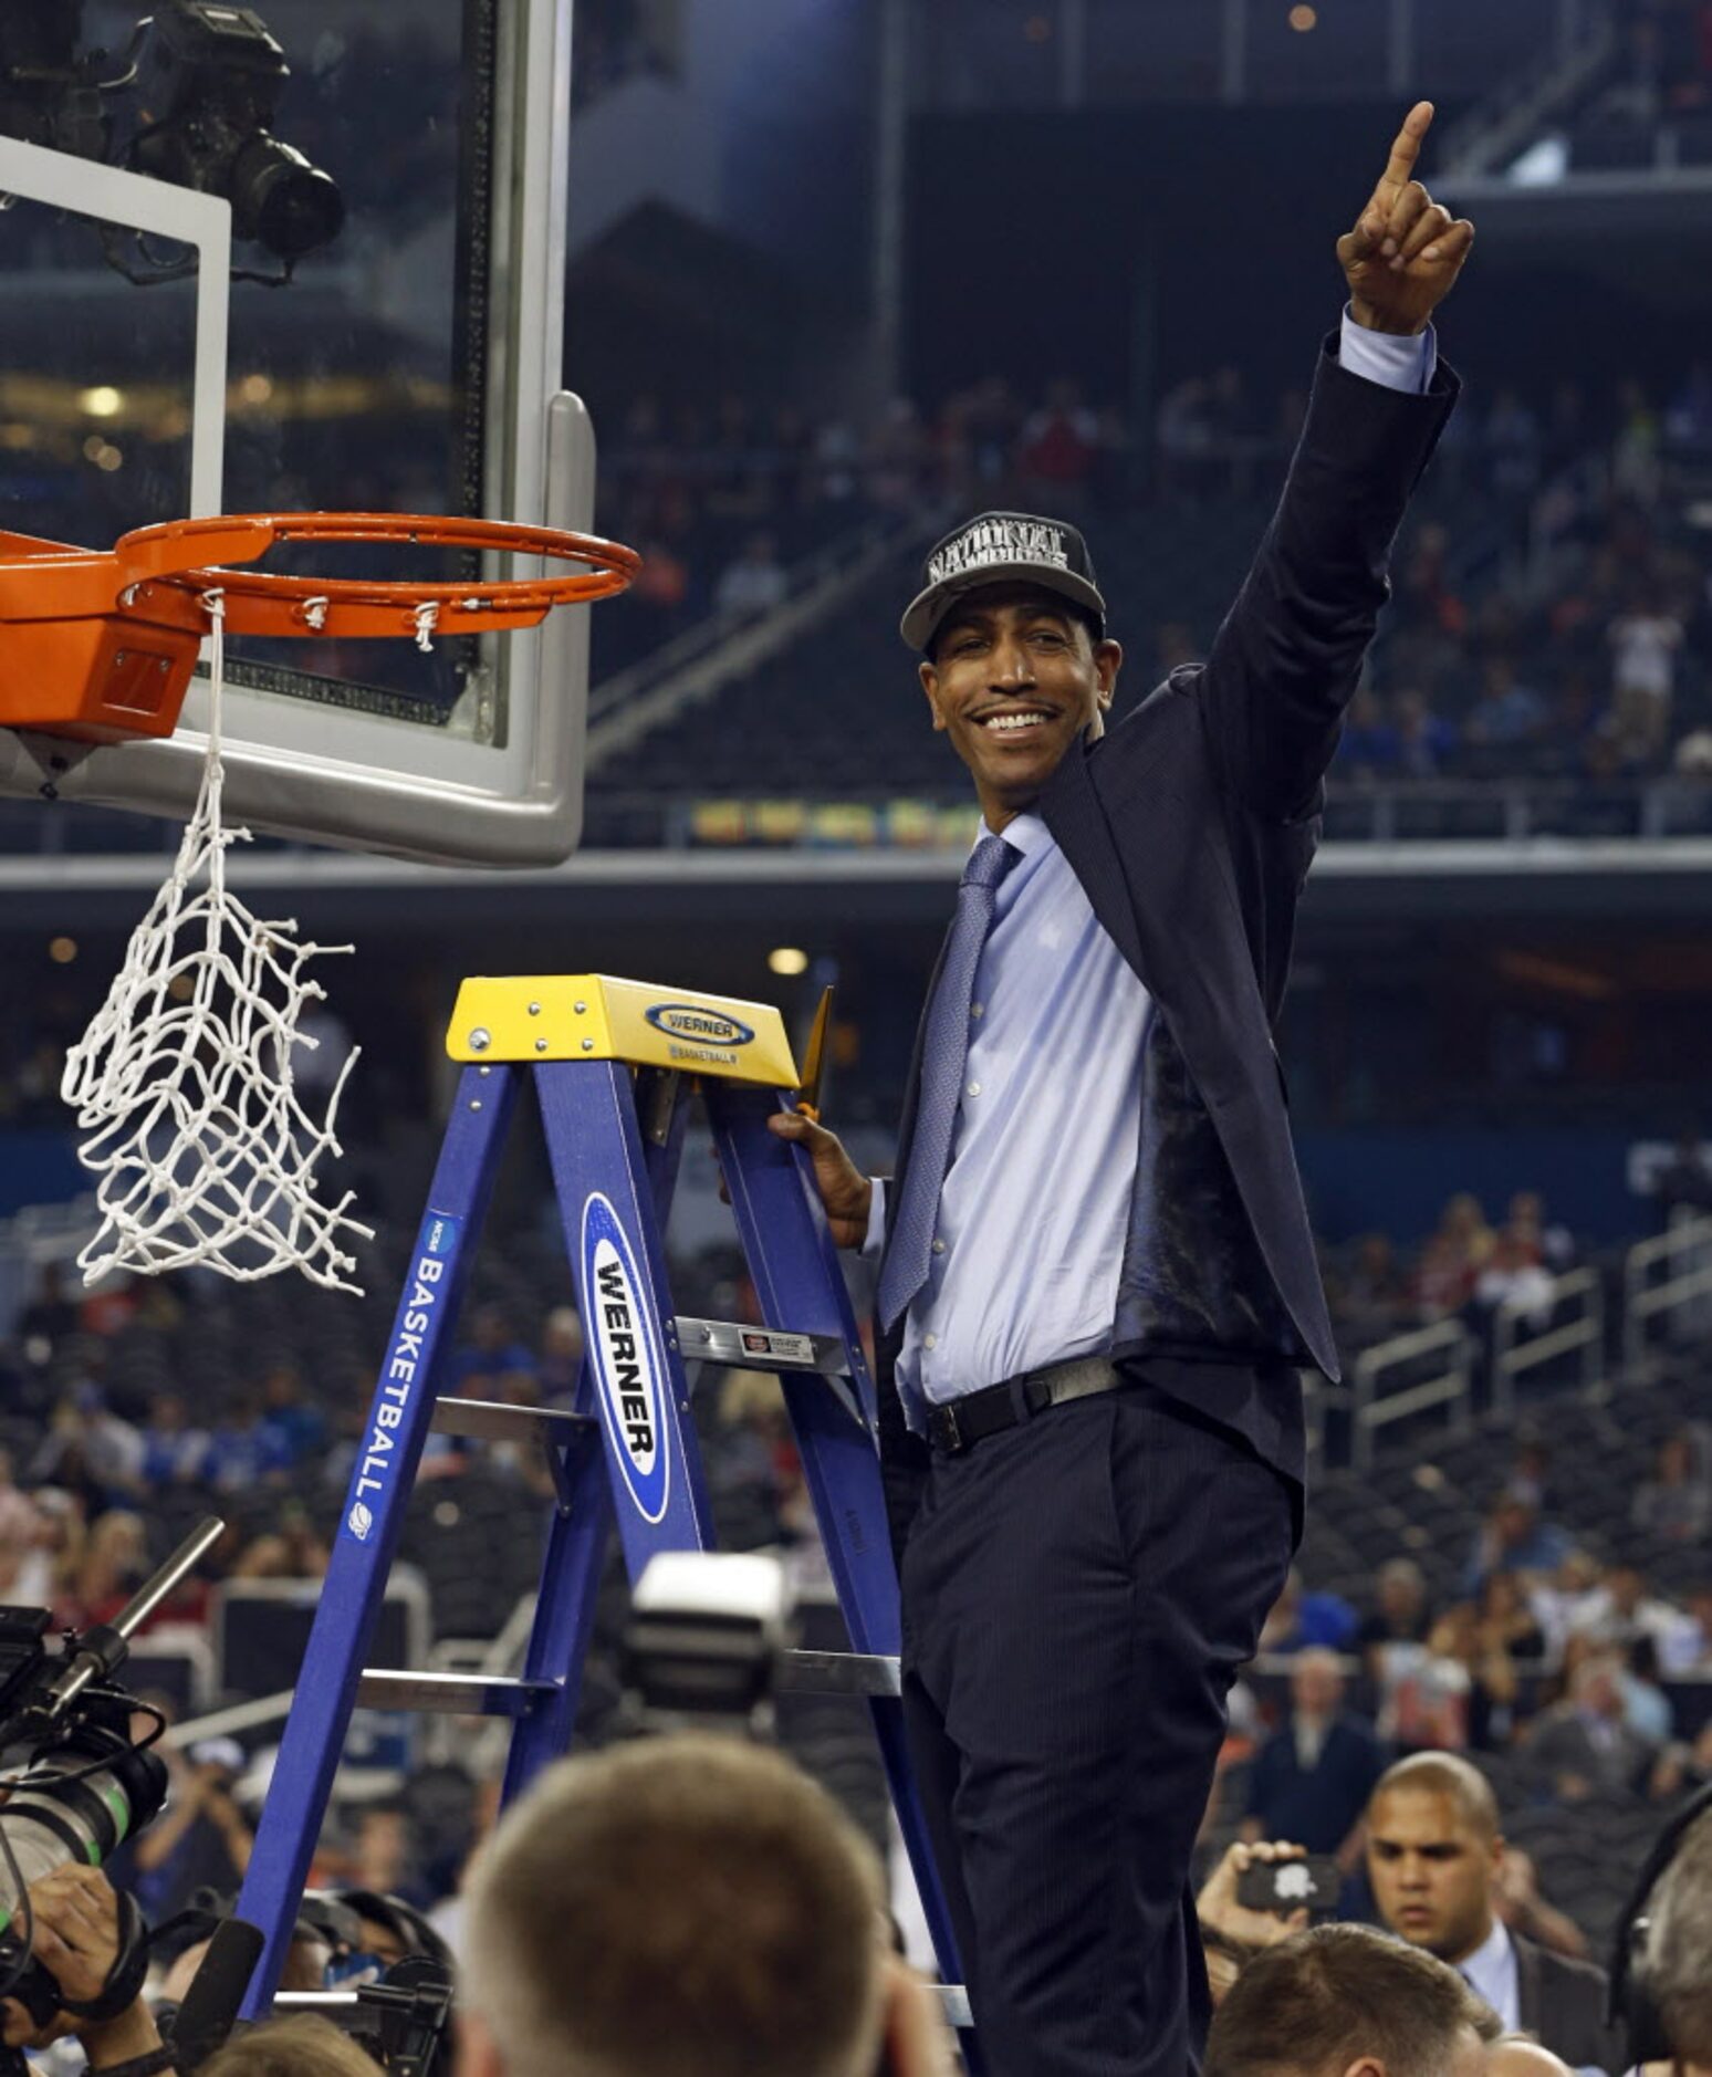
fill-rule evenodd
<path id="1" fill-rule="evenodd" d="M 451 584 L 285 577 L 247 565 L 289 540 L 382 540 L 580 563 Z M 110 744 L 170 735 L 220 596 L 226 633 L 436 636 L 534 627 L 625 590 L 642 557 L 559 528 L 436 513 L 247 513 L 137 528 L 110 550 L 0 532 L 0 725 Z"/>

